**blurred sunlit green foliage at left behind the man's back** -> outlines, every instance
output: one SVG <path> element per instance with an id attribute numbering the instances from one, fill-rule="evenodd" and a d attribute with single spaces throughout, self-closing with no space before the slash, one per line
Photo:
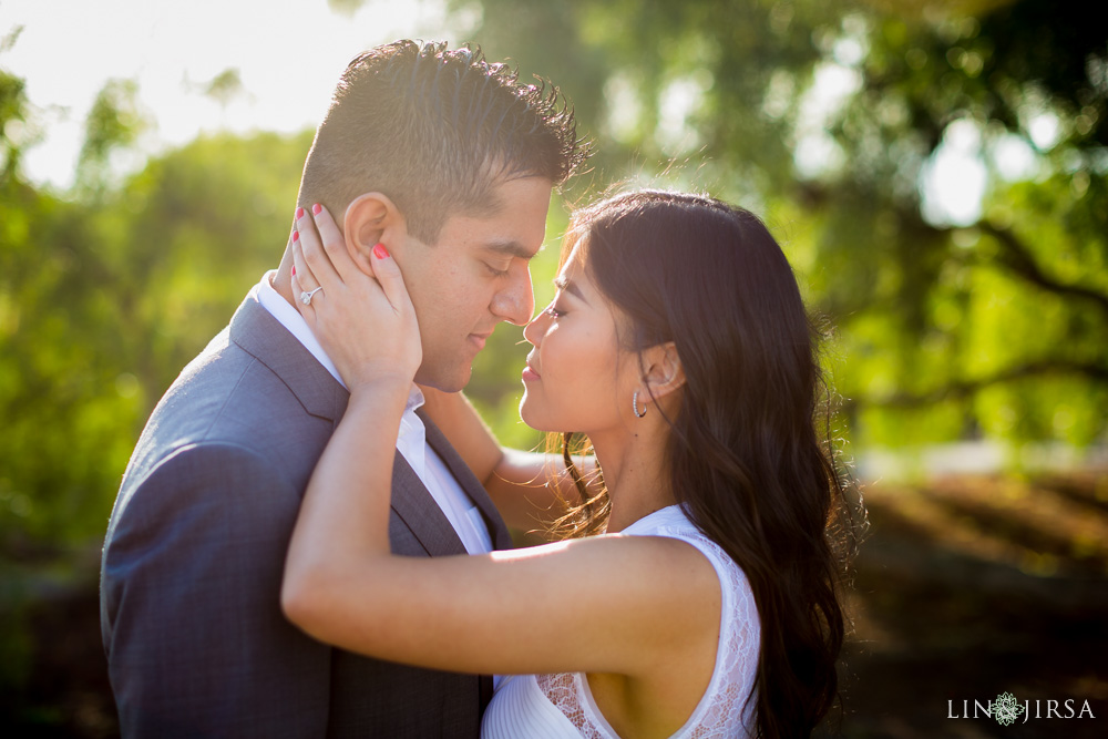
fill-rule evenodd
<path id="1" fill-rule="evenodd" d="M 27 103 L 7 73 L 0 92 L 7 131 L 27 117 Z M 112 151 L 134 140 L 134 110 L 127 85 L 111 83 L 98 97 L 82 153 L 82 167 L 98 174 L 74 199 L 29 185 L 20 147 L 0 141 L 9 152 L 0 182 L 0 542 L 9 548 L 103 535 L 153 403 L 276 266 L 291 225 L 308 134 L 199 138 L 105 186 Z"/>

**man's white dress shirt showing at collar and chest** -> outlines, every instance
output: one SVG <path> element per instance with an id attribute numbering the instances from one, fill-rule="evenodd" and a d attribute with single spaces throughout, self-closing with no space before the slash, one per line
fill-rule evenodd
<path id="1" fill-rule="evenodd" d="M 270 281 L 274 274 L 273 270 L 266 273 L 261 277 L 261 281 L 250 290 L 250 296 L 256 298 L 263 308 L 288 329 L 297 341 L 304 345 L 304 348 L 345 388 L 346 383 L 339 377 L 335 362 L 324 351 L 307 321 L 304 320 L 304 316 L 274 289 Z M 400 417 L 397 450 L 416 471 L 420 482 L 430 491 L 431 497 L 438 503 L 447 520 L 450 521 L 450 525 L 458 533 L 458 537 L 465 545 L 465 551 L 470 554 L 492 552 L 492 537 L 484 519 L 481 516 L 481 511 L 462 491 L 445 462 L 427 443 L 427 429 L 423 425 L 423 420 L 416 414 L 416 409 L 422 404 L 423 393 L 412 384 L 403 415 Z"/>

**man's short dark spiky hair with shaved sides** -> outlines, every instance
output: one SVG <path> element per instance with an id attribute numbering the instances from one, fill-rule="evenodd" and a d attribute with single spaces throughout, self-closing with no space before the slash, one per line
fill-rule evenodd
<path id="1" fill-rule="evenodd" d="M 410 234 L 434 243 L 451 215 L 490 215 L 493 188 L 515 177 L 561 185 L 587 156 L 557 88 L 524 84 L 480 48 L 396 41 L 353 59 L 304 165 L 299 204 L 340 219 L 380 192 Z"/>

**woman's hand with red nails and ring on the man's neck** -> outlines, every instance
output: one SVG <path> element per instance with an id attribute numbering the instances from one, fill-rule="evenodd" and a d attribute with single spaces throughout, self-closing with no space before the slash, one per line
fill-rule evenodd
<path id="1" fill-rule="evenodd" d="M 423 358 L 419 324 L 384 245 L 359 265 L 326 208 L 297 208 L 293 265 L 296 307 L 347 388 L 353 392 L 382 380 L 411 384 Z"/>

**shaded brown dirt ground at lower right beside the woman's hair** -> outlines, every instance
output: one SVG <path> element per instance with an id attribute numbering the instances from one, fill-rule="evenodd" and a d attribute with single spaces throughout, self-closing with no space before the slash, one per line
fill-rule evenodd
<path id="1" fill-rule="evenodd" d="M 1108 736 L 1108 475 L 873 485 L 866 503 L 847 737 Z M 1003 692 L 1029 714 L 972 718 Z M 1095 718 L 1056 718 L 1066 699 Z"/>

